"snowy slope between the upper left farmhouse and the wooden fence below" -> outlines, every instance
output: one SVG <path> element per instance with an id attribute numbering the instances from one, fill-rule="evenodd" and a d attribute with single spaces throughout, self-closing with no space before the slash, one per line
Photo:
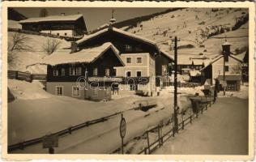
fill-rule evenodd
<path id="1" fill-rule="evenodd" d="M 11 46 L 14 44 L 13 38 L 15 34 L 17 34 L 17 32 L 8 32 L 8 48 L 11 48 Z M 30 34 L 22 35 L 26 38 L 23 40 L 23 45 L 28 46 L 28 50 L 8 50 L 8 58 L 11 57 L 12 60 L 8 61 L 8 70 L 20 70 L 29 71 L 31 73 L 44 74 L 46 73 L 46 66 L 37 63 L 40 63 L 42 59 L 47 55 L 42 47 L 47 42 L 47 40 L 50 39 L 61 41 L 58 50 L 66 50 L 63 48 L 70 47 L 70 42 L 66 40 Z"/>

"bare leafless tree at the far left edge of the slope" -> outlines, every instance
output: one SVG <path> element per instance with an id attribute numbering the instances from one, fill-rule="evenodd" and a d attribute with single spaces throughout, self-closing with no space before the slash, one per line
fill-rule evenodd
<path id="1" fill-rule="evenodd" d="M 8 63 L 15 60 L 17 51 L 32 51 L 32 47 L 28 45 L 30 38 L 22 33 L 15 32 L 8 42 Z"/>

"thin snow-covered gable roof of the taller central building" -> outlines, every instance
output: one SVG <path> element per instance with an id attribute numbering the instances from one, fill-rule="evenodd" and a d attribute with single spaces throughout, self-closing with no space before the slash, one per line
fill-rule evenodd
<path id="1" fill-rule="evenodd" d="M 149 40 L 149 39 L 144 38 L 142 36 L 134 35 L 134 34 L 132 34 L 130 32 L 125 32 L 125 31 L 123 31 L 121 29 L 118 29 L 118 28 L 104 28 L 104 29 L 100 30 L 99 32 L 95 32 L 93 34 L 90 34 L 90 35 L 87 35 L 87 36 L 83 36 L 83 38 L 81 40 L 77 40 L 76 43 L 78 45 L 82 44 L 84 41 L 90 40 L 90 39 L 92 39 L 95 36 L 100 36 L 101 34 L 103 34 L 105 32 L 108 32 L 109 30 L 113 30 L 113 32 L 118 32 L 118 33 L 120 33 L 122 35 L 125 35 L 125 36 L 133 37 L 134 39 L 143 40 L 144 42 L 147 42 L 148 44 L 151 44 L 151 45 L 156 45 L 156 42 L 153 41 L 153 40 Z"/>

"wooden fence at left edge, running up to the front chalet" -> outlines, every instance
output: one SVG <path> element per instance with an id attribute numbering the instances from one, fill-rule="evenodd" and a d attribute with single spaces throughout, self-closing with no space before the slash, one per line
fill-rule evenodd
<path id="1" fill-rule="evenodd" d="M 31 74 L 29 72 L 22 72 L 18 70 L 8 70 L 8 79 L 19 79 L 19 80 L 25 80 L 27 82 L 32 82 L 33 80 L 46 81 L 46 75 Z"/>

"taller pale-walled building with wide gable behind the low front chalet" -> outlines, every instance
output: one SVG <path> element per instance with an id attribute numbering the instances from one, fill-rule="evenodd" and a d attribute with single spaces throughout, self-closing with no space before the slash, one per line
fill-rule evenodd
<path id="1" fill-rule="evenodd" d="M 169 63 L 173 62 L 173 58 L 160 50 L 155 41 L 113 28 L 112 25 L 77 40 L 71 50 L 77 52 L 105 42 L 111 42 L 120 51 L 125 63 L 125 66 L 115 68 L 116 77 L 125 79 L 121 85 L 123 89 L 151 94 L 156 92 L 156 87 L 164 82 L 164 76 L 170 72 Z"/>

